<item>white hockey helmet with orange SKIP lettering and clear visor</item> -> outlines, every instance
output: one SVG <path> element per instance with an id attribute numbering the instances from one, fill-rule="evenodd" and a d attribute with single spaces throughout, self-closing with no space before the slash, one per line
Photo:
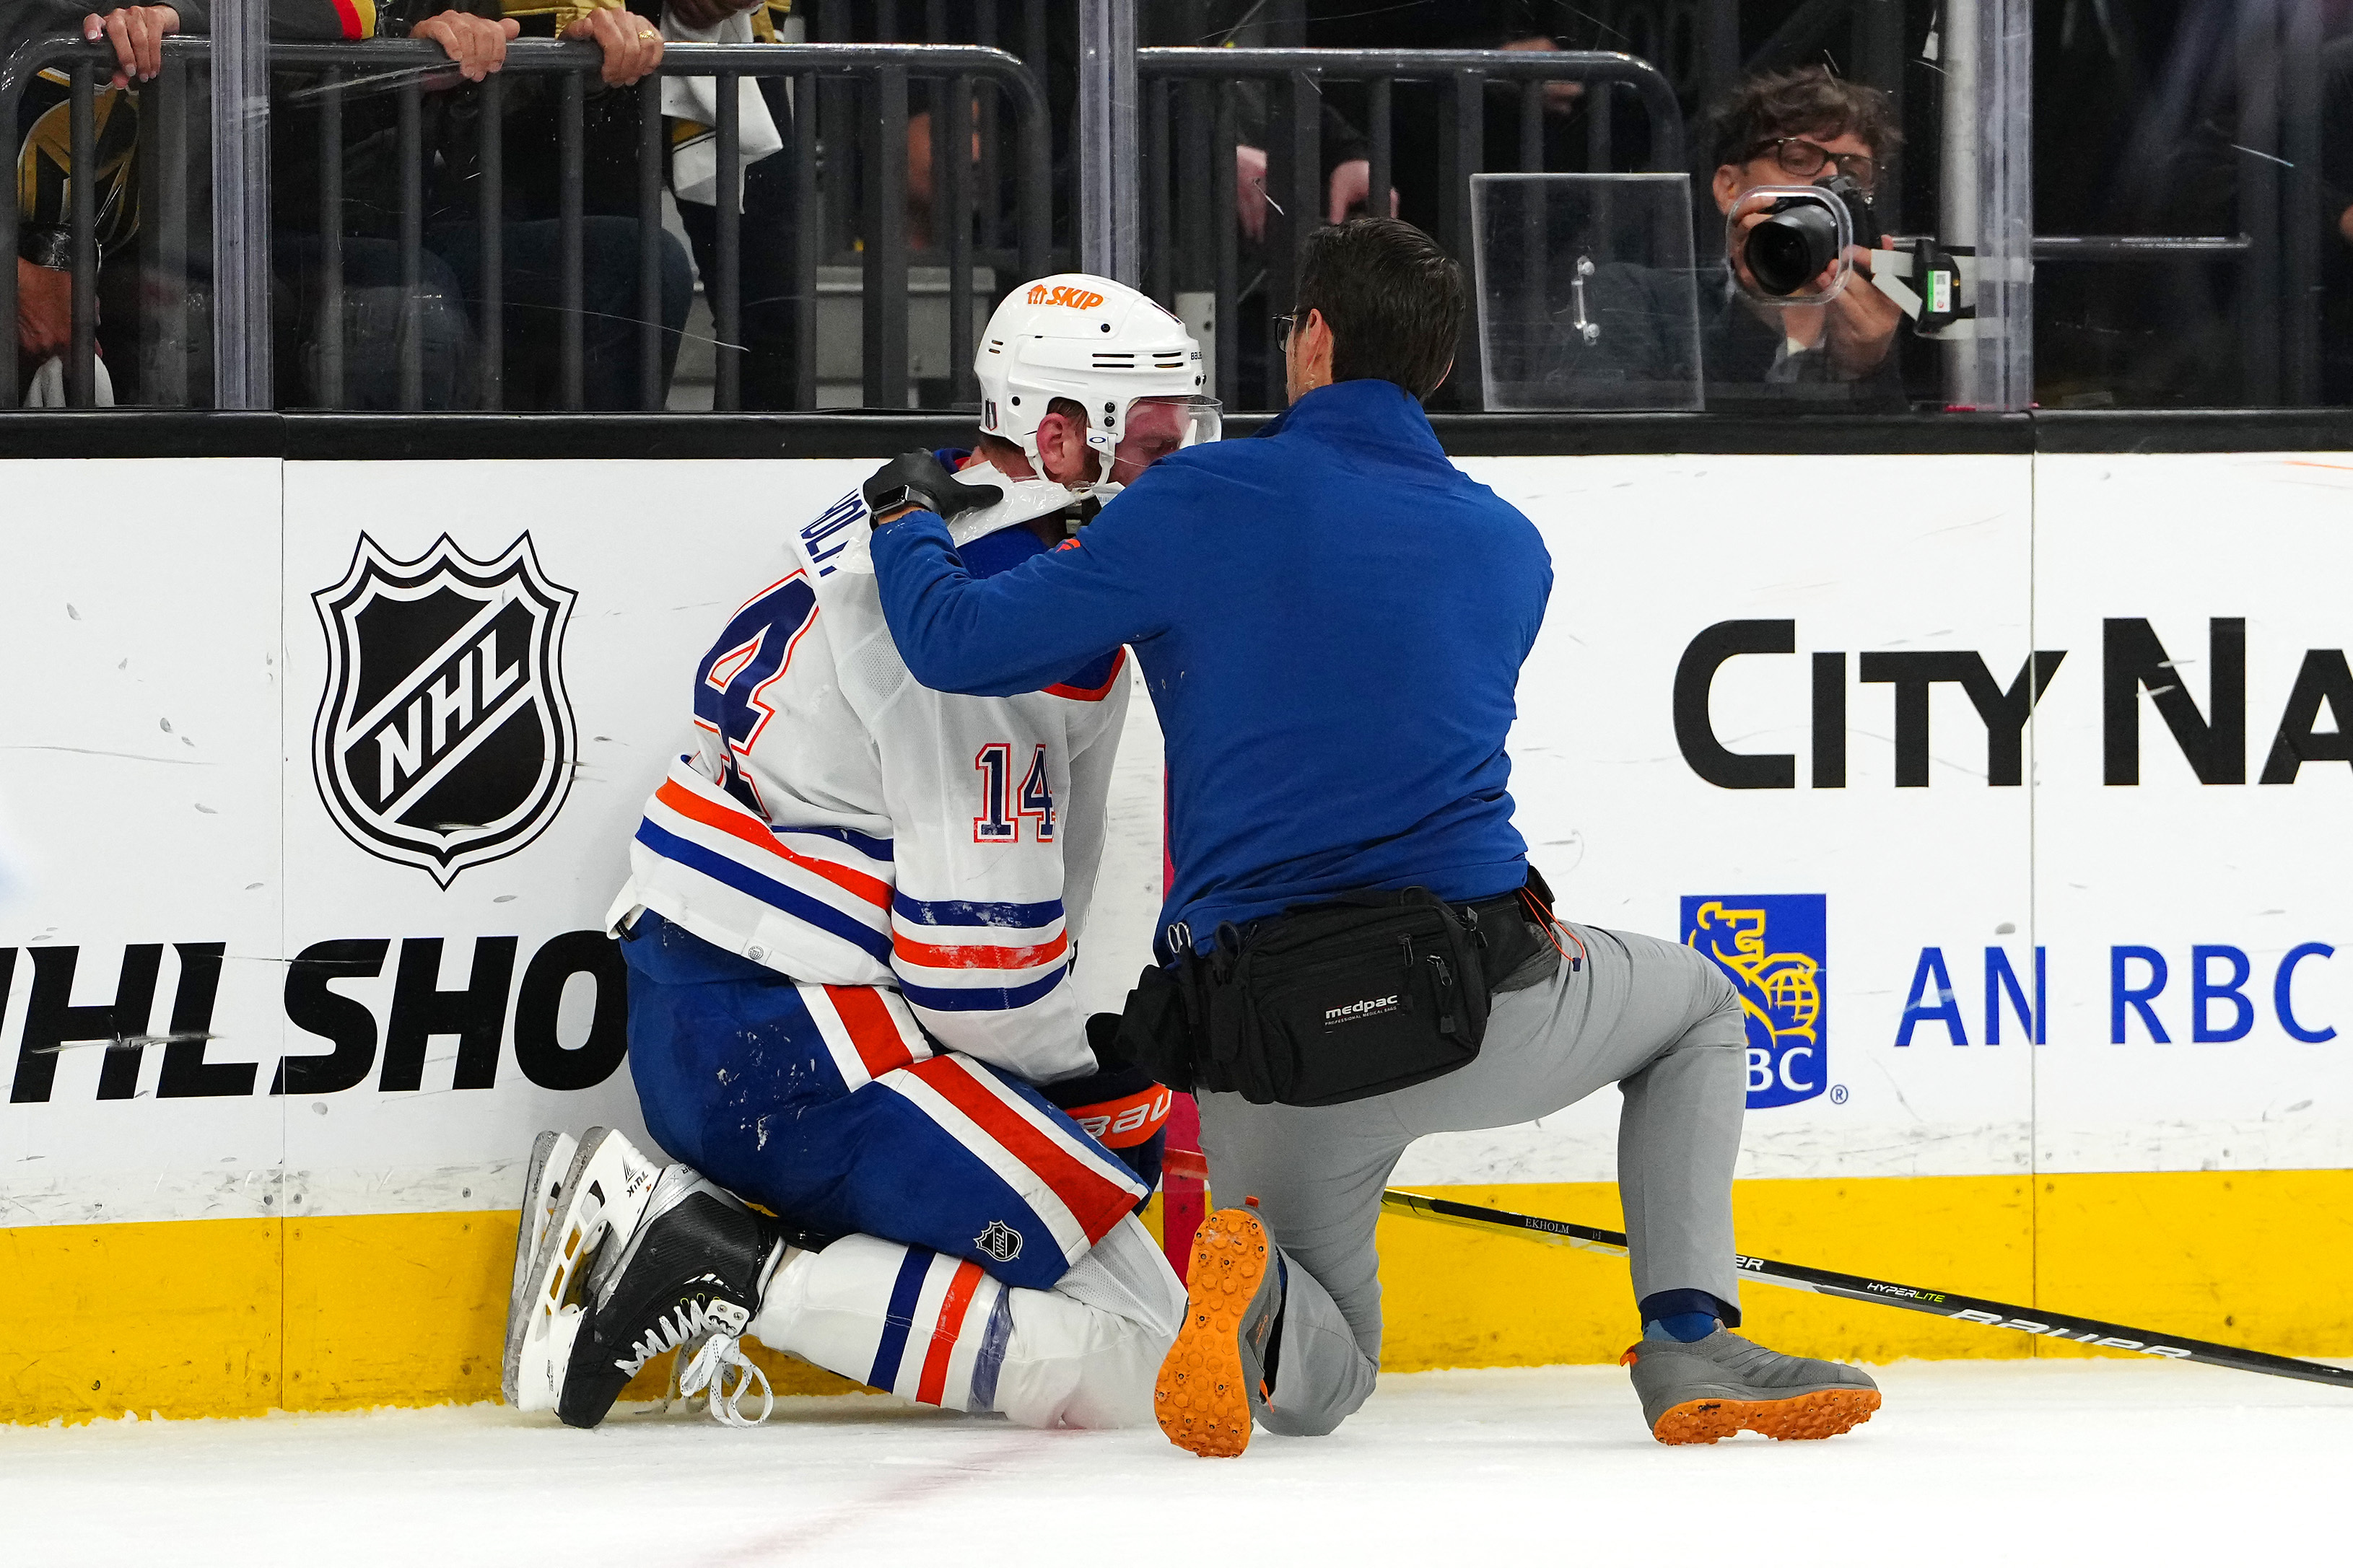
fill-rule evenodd
<path id="1" fill-rule="evenodd" d="M 1068 397 L 1087 409 L 1087 447 L 1101 454 L 1101 475 L 1073 494 L 1120 494 L 1113 451 L 1141 402 L 1169 404 L 1179 447 L 1217 440 L 1219 404 L 1202 383 L 1200 343 L 1151 296 L 1092 273 L 1054 273 L 1007 294 L 988 317 L 972 374 L 981 383 L 981 430 L 1019 447 L 1040 477 L 1038 423 L 1047 404 Z"/>

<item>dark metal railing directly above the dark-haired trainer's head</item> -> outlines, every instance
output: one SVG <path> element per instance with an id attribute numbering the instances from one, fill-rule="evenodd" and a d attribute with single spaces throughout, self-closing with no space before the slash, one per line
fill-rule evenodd
<path id="1" fill-rule="evenodd" d="M 1325 219 L 1322 89 L 1365 85 L 1367 188 L 1391 188 L 1393 87 L 1431 82 L 1445 92 L 1440 118 L 1440 212 L 1433 235 L 1471 270 L 1471 176 L 1485 172 L 1487 92 L 1518 87 L 1520 172 L 1544 169 L 1546 85 L 1586 89 L 1586 167 L 1612 167 L 1612 89 L 1628 87 L 1649 118 L 1649 169 L 1682 172 L 1682 108 L 1666 75 L 1645 59 L 1565 49 L 1136 49 L 1144 92 L 1144 292 L 1176 308 L 1179 292 L 1212 282 L 1217 393 L 1242 397 L 1238 301 L 1240 219 L 1235 214 L 1238 89 L 1268 85 L 1266 146 L 1266 315 L 1292 303 L 1292 268 L 1306 230 Z M 1186 216 L 1179 209 L 1188 207 Z M 1186 277 L 1179 277 L 1186 273 Z M 1191 284 L 1191 289 L 1186 287 Z M 1181 313 L 1179 313 L 1181 315 Z M 1478 329 L 1464 322 L 1454 360 L 1457 400 L 1478 407 Z M 1266 407 L 1282 407 L 1282 364 L 1266 355 Z"/>

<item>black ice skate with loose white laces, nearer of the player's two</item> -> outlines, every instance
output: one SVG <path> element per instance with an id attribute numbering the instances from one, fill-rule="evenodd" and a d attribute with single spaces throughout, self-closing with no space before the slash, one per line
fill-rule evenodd
<path id="1" fill-rule="evenodd" d="M 781 1227 L 692 1166 L 664 1168 L 612 1265 L 598 1265 L 588 1284 L 565 1340 L 567 1361 L 555 1366 L 555 1413 L 567 1427 L 595 1427 L 647 1361 L 701 1340 L 678 1380 L 680 1392 L 711 1389 L 711 1413 L 720 1422 L 765 1420 L 774 1406 L 767 1375 L 736 1340 L 784 1253 Z M 736 1399 L 753 1382 L 765 1403 L 760 1415 L 744 1418 Z"/>

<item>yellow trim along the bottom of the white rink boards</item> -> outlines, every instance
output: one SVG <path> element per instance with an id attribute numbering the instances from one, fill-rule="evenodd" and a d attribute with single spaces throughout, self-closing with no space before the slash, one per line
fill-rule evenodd
<path id="1" fill-rule="evenodd" d="M 1607 1182 L 1419 1190 L 1621 1225 Z M 2353 1171 L 1741 1182 L 1734 1213 L 1769 1258 L 2353 1354 Z M 1617 1361 L 1638 1333 L 1624 1260 L 1395 1215 L 1379 1244 L 1386 1371 Z M 496 1399 L 513 1251 L 511 1213 L 0 1229 L 0 1422 Z M 1748 1333 L 1814 1356 L 2094 1354 L 1772 1286 L 1741 1305 Z M 760 1359 L 786 1394 L 856 1387 Z"/>

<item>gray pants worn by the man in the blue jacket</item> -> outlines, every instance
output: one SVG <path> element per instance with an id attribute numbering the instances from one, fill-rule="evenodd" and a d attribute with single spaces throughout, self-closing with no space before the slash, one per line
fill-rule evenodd
<path id="1" fill-rule="evenodd" d="M 1320 1436 L 1372 1394 L 1381 1359 L 1372 1229 L 1388 1173 L 1424 1133 L 1534 1121 L 1617 1084 L 1635 1300 L 1689 1288 L 1739 1302 L 1732 1161 L 1748 1093 L 1739 997 L 1692 947 L 1569 931 L 1586 961 L 1499 994 L 1478 1060 L 1459 1072 L 1351 1105 L 1200 1095 L 1212 1194 L 1257 1197 L 1282 1248 L 1289 1293 L 1266 1406 L 1273 1432 Z"/>

